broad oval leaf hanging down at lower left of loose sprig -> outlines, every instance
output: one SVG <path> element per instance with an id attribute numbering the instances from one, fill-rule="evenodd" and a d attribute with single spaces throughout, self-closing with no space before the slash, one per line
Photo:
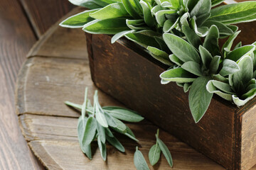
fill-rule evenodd
<path id="1" fill-rule="evenodd" d="M 95 118 L 90 116 L 87 119 L 85 124 L 85 133 L 82 137 L 82 146 L 90 145 L 90 143 L 95 137 L 96 128 L 97 128 L 96 120 Z"/>

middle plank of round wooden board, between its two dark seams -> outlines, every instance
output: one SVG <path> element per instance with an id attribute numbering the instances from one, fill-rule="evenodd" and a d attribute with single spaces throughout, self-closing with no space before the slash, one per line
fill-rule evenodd
<path id="1" fill-rule="evenodd" d="M 85 86 L 92 99 L 95 86 L 90 78 L 88 60 L 32 57 L 21 69 L 17 81 L 17 113 L 78 117 L 64 101 L 83 102 Z M 99 91 L 102 105 L 122 106 Z"/>

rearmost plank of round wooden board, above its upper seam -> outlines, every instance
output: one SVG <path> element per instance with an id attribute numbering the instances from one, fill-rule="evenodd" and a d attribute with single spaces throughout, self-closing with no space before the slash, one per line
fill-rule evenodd
<path id="1" fill-rule="evenodd" d="M 75 8 L 68 13 L 72 16 L 75 13 L 83 11 L 84 8 Z M 66 57 L 75 59 L 85 59 L 87 57 L 87 46 L 85 34 L 82 29 L 62 28 L 58 26 L 58 21 L 52 26 L 28 52 L 28 57 Z"/>

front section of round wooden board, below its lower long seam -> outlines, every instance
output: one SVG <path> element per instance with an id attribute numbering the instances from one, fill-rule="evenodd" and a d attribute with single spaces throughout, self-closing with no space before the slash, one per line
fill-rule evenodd
<path id="1" fill-rule="evenodd" d="M 32 140 L 29 145 L 33 152 L 49 169 L 135 169 L 133 165 L 135 147 L 140 146 L 140 150 L 149 163 L 147 154 L 150 147 L 156 142 L 154 134 L 157 127 L 155 125 L 148 122 L 127 123 L 140 141 L 139 144 L 127 137 L 117 135 L 126 149 L 125 154 L 107 145 L 108 157 L 107 162 L 104 162 L 100 157 L 99 150 L 96 149 L 97 144 L 94 143 L 92 150 L 95 151 L 95 154 L 90 161 L 80 151 L 76 132 L 77 118 L 25 114 L 20 116 L 20 121 L 22 128 L 26 128 L 24 129 L 25 136 L 28 136 L 26 138 Z M 215 164 L 164 130 L 160 130 L 159 137 L 171 150 L 174 169 L 198 169 L 198 167 L 201 169 L 223 169 L 222 166 Z M 164 156 L 161 157 L 160 163 L 155 168 L 170 169 Z"/>

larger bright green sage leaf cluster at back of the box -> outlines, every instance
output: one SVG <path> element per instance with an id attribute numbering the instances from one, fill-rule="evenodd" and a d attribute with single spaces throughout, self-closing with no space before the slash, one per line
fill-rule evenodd
<path id="1" fill-rule="evenodd" d="M 214 6 L 223 0 L 70 0 L 90 10 L 71 16 L 60 26 L 82 28 L 87 33 L 113 35 L 111 42 L 122 37 L 147 48 L 159 62 L 171 66 L 171 51 L 163 33 L 178 37 L 193 29 L 206 37 L 211 26 L 217 26 L 220 38 L 233 35 L 237 26 L 230 24 L 255 21 L 256 1 Z M 186 35 L 187 37 L 188 35 Z M 193 35 L 191 35 L 193 36 Z M 193 40 L 193 38 L 190 38 Z"/>

